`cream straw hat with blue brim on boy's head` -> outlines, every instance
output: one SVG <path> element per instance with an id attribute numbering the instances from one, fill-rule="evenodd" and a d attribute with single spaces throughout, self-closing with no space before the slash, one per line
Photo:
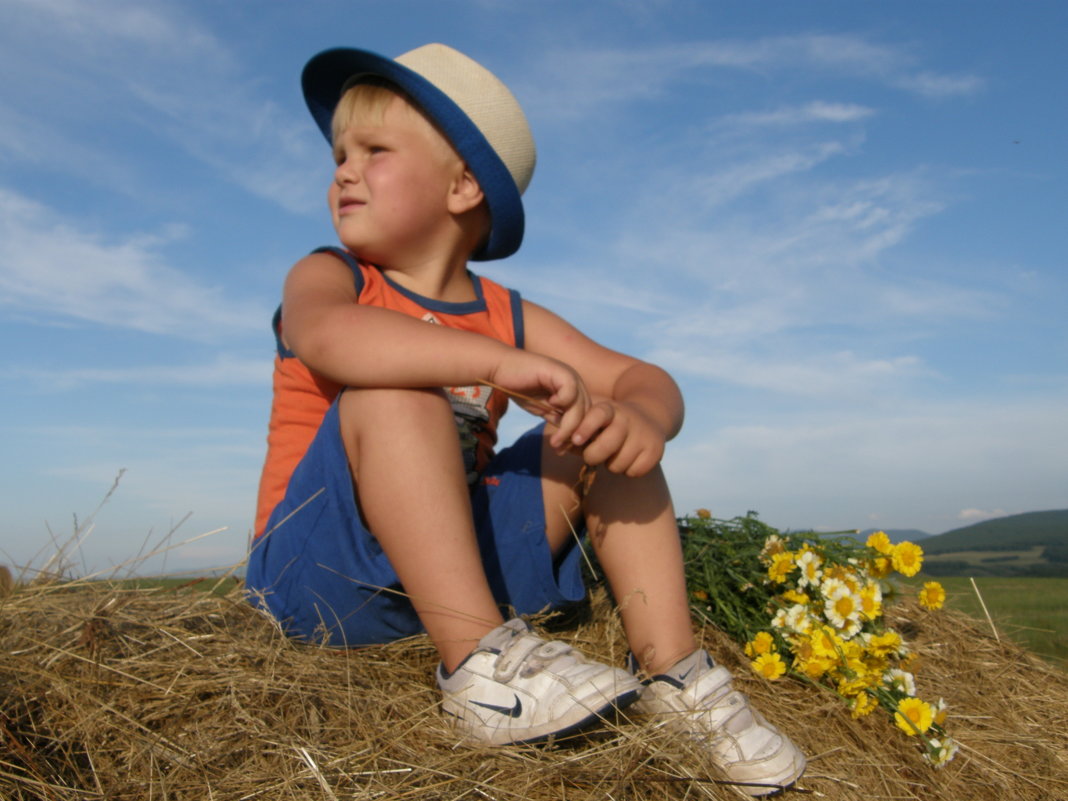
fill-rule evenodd
<path id="1" fill-rule="evenodd" d="M 445 45 L 423 45 L 388 59 L 367 50 L 335 48 L 304 66 L 304 101 L 319 130 L 330 123 L 342 92 L 360 76 L 397 84 L 445 135 L 478 179 L 491 230 L 472 258 L 504 258 L 523 239 L 520 195 L 534 173 L 534 139 L 519 101 L 492 73 Z"/>

